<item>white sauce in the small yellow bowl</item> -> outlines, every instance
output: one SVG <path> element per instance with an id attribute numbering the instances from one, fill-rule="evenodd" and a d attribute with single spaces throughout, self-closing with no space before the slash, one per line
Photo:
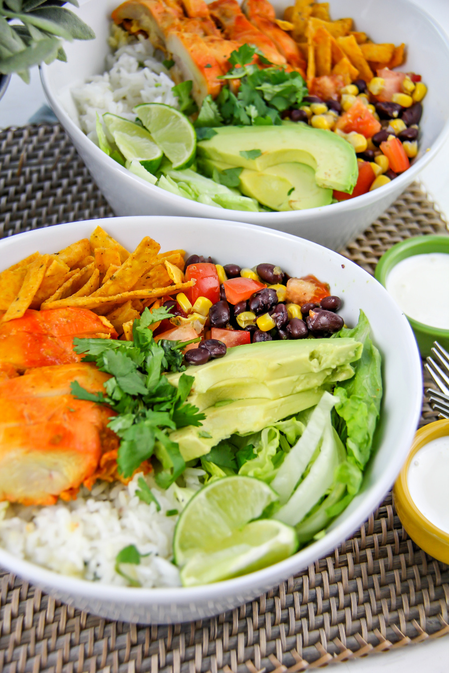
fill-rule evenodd
<path id="1" fill-rule="evenodd" d="M 449 533 L 449 436 L 432 439 L 419 449 L 409 466 L 407 485 L 423 516 Z"/>

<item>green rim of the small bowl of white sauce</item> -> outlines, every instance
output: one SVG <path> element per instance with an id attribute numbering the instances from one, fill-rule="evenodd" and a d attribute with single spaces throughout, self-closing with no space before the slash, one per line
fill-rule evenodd
<path id="1" fill-rule="evenodd" d="M 427 248 L 431 248 L 431 250 L 427 250 Z M 438 250 L 436 248 L 438 248 Z M 374 277 L 386 288 L 388 275 L 396 264 L 399 264 L 399 262 L 402 262 L 409 257 L 414 257 L 417 254 L 425 254 L 425 250 L 429 253 L 443 252 L 441 248 L 444 252 L 449 254 L 449 236 L 431 234 L 429 236 L 413 236 L 412 238 L 406 238 L 405 240 L 394 244 L 390 250 L 384 252 L 376 265 Z M 405 315 L 407 316 L 407 314 Z M 438 341 L 438 339 L 448 339 L 449 337 L 449 329 L 445 330 L 441 327 L 431 327 L 430 325 L 426 325 L 424 322 L 419 322 L 409 316 L 407 316 L 407 320 L 413 327 L 413 330 L 419 330 L 419 332 L 423 332 L 423 334 L 428 334 L 433 338 L 433 341 Z"/>

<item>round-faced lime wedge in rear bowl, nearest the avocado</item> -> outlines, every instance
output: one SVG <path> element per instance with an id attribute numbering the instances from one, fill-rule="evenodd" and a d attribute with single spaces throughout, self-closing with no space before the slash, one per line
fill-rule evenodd
<path id="1" fill-rule="evenodd" d="M 163 103 L 142 103 L 134 110 L 173 168 L 187 166 L 193 160 L 197 135 L 185 114 Z"/>

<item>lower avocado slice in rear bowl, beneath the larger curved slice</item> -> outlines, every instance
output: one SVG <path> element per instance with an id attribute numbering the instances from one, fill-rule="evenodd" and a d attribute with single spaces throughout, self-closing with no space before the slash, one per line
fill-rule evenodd
<path id="1" fill-rule="evenodd" d="M 332 190 L 318 187 L 313 168 L 296 162 L 276 164 L 263 171 L 244 168 L 240 173 L 240 189 L 276 211 L 304 210 L 332 203 Z"/>

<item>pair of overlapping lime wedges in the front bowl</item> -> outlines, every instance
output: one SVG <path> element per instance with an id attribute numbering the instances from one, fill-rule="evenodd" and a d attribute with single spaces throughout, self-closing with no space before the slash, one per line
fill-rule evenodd
<path id="1" fill-rule="evenodd" d="M 182 584 L 198 586 L 244 575 L 295 553 L 298 538 L 291 526 L 272 519 L 254 521 L 276 500 L 271 487 L 249 476 L 229 476 L 198 491 L 174 533 Z"/>

